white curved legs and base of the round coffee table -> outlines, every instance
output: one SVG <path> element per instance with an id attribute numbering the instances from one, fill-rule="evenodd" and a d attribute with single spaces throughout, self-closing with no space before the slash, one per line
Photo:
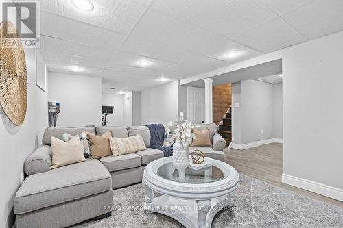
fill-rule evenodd
<path id="1" fill-rule="evenodd" d="M 144 212 L 150 214 L 157 212 L 174 218 L 187 228 L 209 228 L 212 220 L 224 207 L 231 207 L 233 200 L 228 195 L 211 200 L 176 199 L 174 197 L 160 196 L 154 198 L 153 191 L 143 183 L 147 196 L 145 197 Z"/>

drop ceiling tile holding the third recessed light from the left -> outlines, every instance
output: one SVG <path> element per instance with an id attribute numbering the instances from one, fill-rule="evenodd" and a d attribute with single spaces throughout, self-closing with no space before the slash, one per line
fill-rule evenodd
<path id="1" fill-rule="evenodd" d="M 145 61 L 147 62 L 147 66 L 141 66 L 139 64 L 139 61 Z M 108 65 L 129 65 L 129 66 L 136 66 L 139 68 L 148 68 L 148 69 L 154 69 L 158 71 L 164 71 L 166 68 L 169 68 L 170 66 L 175 65 L 174 62 L 167 62 L 163 60 L 156 60 L 153 58 L 147 58 L 145 56 L 141 55 L 133 55 L 130 53 L 125 53 L 118 51 L 116 52 L 108 61 Z"/>

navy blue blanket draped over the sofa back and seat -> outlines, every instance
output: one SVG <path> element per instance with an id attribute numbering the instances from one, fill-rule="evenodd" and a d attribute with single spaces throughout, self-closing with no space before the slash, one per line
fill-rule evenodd
<path id="1" fill-rule="evenodd" d="M 160 124 L 144 125 L 150 131 L 150 147 L 162 151 L 165 157 L 173 155 L 173 147 L 163 147 L 165 142 L 165 127 Z"/>

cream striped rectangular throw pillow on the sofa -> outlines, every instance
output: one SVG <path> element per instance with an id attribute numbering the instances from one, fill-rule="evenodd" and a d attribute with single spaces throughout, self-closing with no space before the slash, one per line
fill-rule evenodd
<path id="1" fill-rule="evenodd" d="M 147 148 L 141 134 L 137 134 L 128 138 L 110 138 L 110 149 L 113 156 L 119 156 L 127 153 L 136 153 Z"/>

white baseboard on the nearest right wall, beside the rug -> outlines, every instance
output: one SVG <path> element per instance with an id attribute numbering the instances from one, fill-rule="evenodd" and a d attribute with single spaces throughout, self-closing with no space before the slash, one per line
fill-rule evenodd
<path id="1" fill-rule="evenodd" d="M 292 175 L 287 175 L 285 173 L 283 173 L 283 175 L 282 175 L 282 183 L 287 183 L 290 186 L 303 188 L 303 189 L 308 190 L 310 192 L 322 194 L 325 197 L 330 197 L 332 199 L 337 199 L 339 201 L 343 201 L 343 190 L 340 188 L 327 186 L 323 183 L 318 183 L 315 181 L 310 181 L 308 179 L 294 177 Z"/>

